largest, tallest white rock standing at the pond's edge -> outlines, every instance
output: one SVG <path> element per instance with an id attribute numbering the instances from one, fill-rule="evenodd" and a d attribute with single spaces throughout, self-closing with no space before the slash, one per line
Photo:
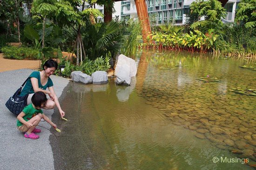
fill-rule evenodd
<path id="1" fill-rule="evenodd" d="M 115 76 L 117 76 L 116 83 L 124 83 L 130 85 L 131 77 L 136 76 L 137 66 L 135 60 L 132 58 L 126 57 L 121 54 L 118 56 L 118 61 L 115 67 Z"/>

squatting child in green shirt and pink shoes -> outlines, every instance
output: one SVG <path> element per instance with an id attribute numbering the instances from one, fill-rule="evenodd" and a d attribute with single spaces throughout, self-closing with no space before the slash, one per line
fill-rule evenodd
<path id="1" fill-rule="evenodd" d="M 41 119 L 47 121 L 51 126 L 56 128 L 57 126 L 43 113 L 41 108 L 47 104 L 47 97 L 44 92 L 36 92 L 31 99 L 32 103 L 24 107 L 22 112 L 17 117 L 17 126 L 21 132 L 25 132 L 24 137 L 30 139 L 38 139 L 40 129 L 36 129 Z"/>

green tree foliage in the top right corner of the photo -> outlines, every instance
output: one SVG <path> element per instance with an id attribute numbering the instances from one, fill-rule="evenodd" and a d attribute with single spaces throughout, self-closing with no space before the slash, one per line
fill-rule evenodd
<path id="1" fill-rule="evenodd" d="M 241 0 L 236 11 L 236 22 L 242 22 L 246 28 L 256 27 L 256 0 Z"/>

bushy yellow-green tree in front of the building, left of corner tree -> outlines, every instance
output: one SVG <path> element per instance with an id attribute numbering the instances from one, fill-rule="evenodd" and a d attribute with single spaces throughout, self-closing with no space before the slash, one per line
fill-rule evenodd
<path id="1" fill-rule="evenodd" d="M 189 19 L 189 22 L 194 21 L 191 28 L 200 31 L 214 28 L 216 24 L 222 25 L 222 18 L 226 16 L 226 10 L 218 0 L 196 0 L 190 5 L 190 13 L 188 17 L 192 18 Z M 202 17 L 204 17 L 204 20 L 200 21 Z"/>

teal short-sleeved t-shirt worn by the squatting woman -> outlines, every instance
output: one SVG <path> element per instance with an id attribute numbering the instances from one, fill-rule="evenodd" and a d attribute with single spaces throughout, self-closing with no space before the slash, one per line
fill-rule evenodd
<path id="1" fill-rule="evenodd" d="M 34 71 L 33 73 L 31 73 L 31 75 L 29 77 L 30 78 L 31 77 L 37 78 L 37 80 L 38 80 L 38 87 L 43 89 L 43 90 L 46 90 L 47 88 L 52 87 L 54 85 L 52 79 L 50 77 L 48 77 L 48 81 L 47 81 L 46 85 L 42 86 L 42 84 L 41 84 L 41 77 L 40 77 L 40 72 L 39 71 Z M 26 85 L 23 87 L 23 89 L 22 89 L 22 91 L 20 93 L 20 96 L 24 96 L 26 94 L 34 93 L 34 89 L 33 89 L 32 82 L 31 82 L 30 78 L 27 79 Z"/>

